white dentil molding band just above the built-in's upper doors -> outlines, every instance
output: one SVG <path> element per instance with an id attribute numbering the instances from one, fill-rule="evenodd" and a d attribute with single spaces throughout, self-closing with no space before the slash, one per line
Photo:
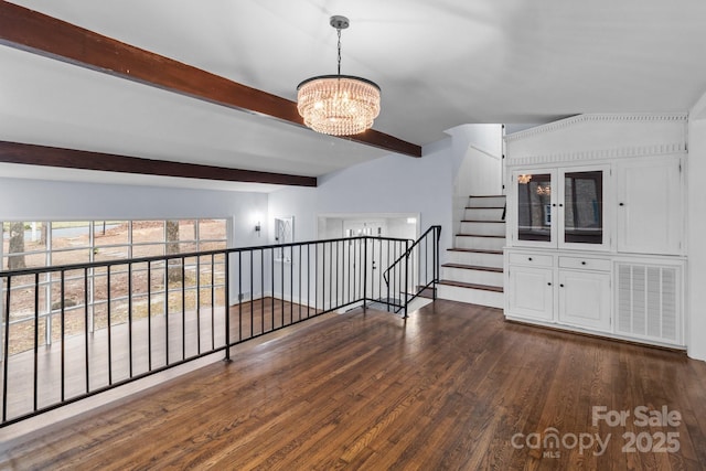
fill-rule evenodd
<path id="1" fill-rule="evenodd" d="M 654 157 L 668 154 L 686 154 L 686 143 L 674 142 L 643 147 L 629 147 L 618 149 L 597 149 L 575 152 L 559 152 L 544 156 L 525 156 L 512 158 L 507 156 L 507 165 L 532 165 L 556 162 L 579 162 L 591 160 L 625 159 L 638 157 Z"/>

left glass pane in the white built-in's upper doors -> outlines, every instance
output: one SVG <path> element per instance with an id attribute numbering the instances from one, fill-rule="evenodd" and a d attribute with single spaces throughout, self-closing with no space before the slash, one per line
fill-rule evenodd
<path id="1" fill-rule="evenodd" d="M 522 173 L 516 176 L 516 238 L 527 245 L 542 245 L 555 239 L 553 231 L 553 188 L 550 172 Z"/>

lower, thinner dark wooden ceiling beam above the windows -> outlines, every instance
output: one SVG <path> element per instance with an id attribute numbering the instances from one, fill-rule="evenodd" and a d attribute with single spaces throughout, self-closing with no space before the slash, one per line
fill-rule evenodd
<path id="1" fill-rule="evenodd" d="M 8 141 L 0 141 L 0 162 L 226 182 L 317 186 L 314 176 L 257 172 Z"/>

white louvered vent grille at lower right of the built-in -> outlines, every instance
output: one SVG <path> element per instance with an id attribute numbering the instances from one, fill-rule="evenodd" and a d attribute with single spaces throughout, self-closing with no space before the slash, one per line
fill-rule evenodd
<path id="1" fill-rule="evenodd" d="M 678 268 L 618 265 L 619 333 L 680 343 Z"/>

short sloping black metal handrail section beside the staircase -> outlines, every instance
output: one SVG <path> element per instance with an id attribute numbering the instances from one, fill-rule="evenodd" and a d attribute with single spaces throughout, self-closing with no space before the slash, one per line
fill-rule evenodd
<path id="1" fill-rule="evenodd" d="M 409 303 L 429 292 L 436 299 L 439 281 L 439 239 L 441 226 L 431 226 L 385 270 L 388 309 L 402 311 L 407 317 Z"/>

